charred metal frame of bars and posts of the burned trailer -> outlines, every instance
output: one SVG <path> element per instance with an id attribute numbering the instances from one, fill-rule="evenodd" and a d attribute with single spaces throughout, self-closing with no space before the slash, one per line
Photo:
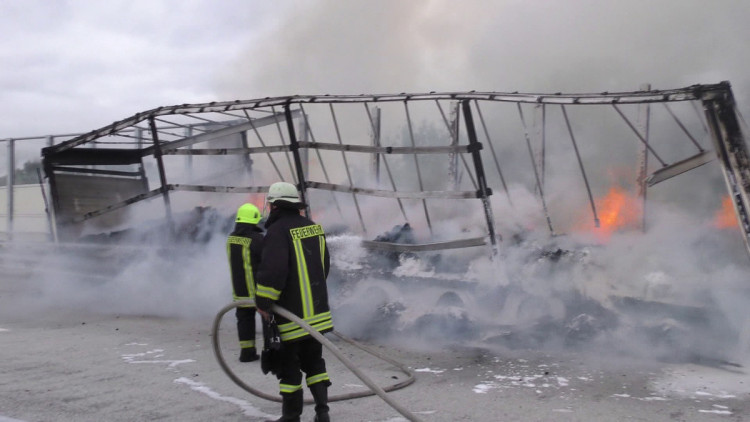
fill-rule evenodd
<path id="1" fill-rule="evenodd" d="M 449 137 L 452 141 L 457 141 L 460 135 L 458 134 L 458 120 L 455 122 L 449 122 L 445 114 L 442 112 L 440 101 L 450 101 L 460 104 L 460 112 L 464 114 L 464 125 L 462 130 L 465 131 L 467 144 L 461 145 L 458 142 L 451 142 L 451 145 L 447 146 L 417 146 L 414 131 L 412 128 L 412 116 L 409 105 L 420 101 L 435 101 L 443 120 L 449 131 Z M 594 219 L 597 220 L 596 208 L 591 196 L 591 188 L 588 184 L 588 178 L 584 170 L 583 162 L 581 161 L 580 154 L 577 151 L 577 142 L 573 134 L 573 129 L 568 120 L 566 107 L 568 106 L 582 106 L 582 105 L 610 105 L 619 114 L 623 121 L 633 131 L 637 140 L 641 142 L 646 150 L 652 154 L 655 159 L 661 164 L 662 168 L 652 173 L 648 179 L 648 184 L 653 185 L 658 181 L 665 180 L 666 178 L 673 177 L 681 172 L 687 171 L 698 165 L 705 164 L 709 161 L 707 153 L 700 147 L 695 138 L 689 133 L 685 126 L 679 121 L 679 119 L 672 113 L 668 107 L 668 103 L 680 102 L 680 101 L 700 101 L 703 104 L 705 118 L 708 121 L 708 128 L 711 131 L 711 135 L 714 141 L 716 153 L 721 161 L 722 170 L 724 172 L 725 181 L 727 188 L 730 192 L 730 196 L 733 199 L 735 212 L 743 230 L 745 243 L 750 253 L 750 219 L 748 217 L 748 209 L 750 209 L 750 202 L 748 199 L 748 192 L 750 191 L 750 164 L 748 163 L 747 147 L 745 139 L 740 131 L 738 124 L 736 109 L 734 100 L 731 93 L 731 87 L 728 82 L 722 82 L 714 85 L 694 85 L 687 88 L 673 89 L 673 90 L 644 90 L 635 92 L 620 92 L 620 93 L 597 93 L 597 94 L 522 94 L 522 93 L 499 93 L 499 92 L 445 92 L 445 93 L 416 93 L 416 94 L 384 94 L 384 95 L 297 95 L 287 97 L 273 97 L 254 99 L 246 101 L 229 101 L 229 102 L 214 102 L 206 104 L 183 104 L 175 105 L 170 107 L 159 107 L 153 110 L 149 110 L 143 113 L 138 113 L 130 118 L 115 122 L 111 125 L 103 128 L 91 131 L 87 134 L 78 136 L 67 142 L 59 145 L 50 146 L 43 149 L 43 158 L 45 161 L 45 173 L 50 181 L 52 191 L 54 188 L 54 172 L 52 164 L 57 163 L 59 157 L 64 157 L 66 154 L 70 154 L 71 151 L 77 151 L 82 149 L 81 147 L 100 142 L 107 137 L 117 136 L 124 138 L 137 138 L 132 135 L 127 135 L 126 132 L 132 131 L 149 131 L 151 133 L 153 145 L 145 148 L 138 148 L 136 154 L 139 157 L 145 157 L 153 155 L 157 160 L 160 174 L 159 189 L 151 191 L 139 197 L 129 198 L 118 204 L 112 204 L 111 206 L 97 210 L 86 214 L 82 217 L 82 220 L 101 215 L 111 210 L 121 208 L 123 206 L 132 204 L 134 202 L 151 198 L 157 195 L 163 195 L 165 201 L 165 208 L 167 208 L 167 214 L 169 215 L 169 198 L 168 192 L 171 190 L 182 190 L 182 191 L 200 191 L 200 192 L 227 192 L 227 193 L 263 193 L 267 191 L 268 186 L 203 186 L 203 185 L 186 185 L 186 184 L 169 184 L 166 180 L 166 172 L 163 167 L 161 159 L 165 155 L 231 155 L 231 154 L 243 154 L 248 160 L 251 160 L 253 154 L 266 154 L 271 160 L 274 170 L 279 178 L 283 178 L 282 171 L 277 165 L 276 161 L 272 157 L 272 153 L 284 153 L 287 160 L 287 164 L 291 171 L 293 182 L 297 184 L 303 197 L 307 202 L 307 195 L 309 189 L 320 189 L 330 191 L 333 195 L 334 192 L 344 192 L 352 195 L 357 208 L 358 218 L 362 225 L 363 232 L 366 232 L 366 226 L 363 221 L 362 213 L 360 210 L 358 195 L 367 196 L 379 196 L 395 198 L 398 201 L 399 208 L 404 218 L 407 218 L 407 213 L 402 203 L 403 199 L 415 199 L 422 203 L 424 210 L 424 217 L 427 221 L 427 226 L 432 230 L 432 221 L 430 213 L 427 207 L 427 199 L 430 198 L 441 198 L 441 199 L 469 199 L 475 198 L 480 199 L 483 203 L 483 208 L 487 223 L 487 236 L 481 241 L 482 244 L 490 244 L 495 246 L 496 235 L 494 220 L 492 215 L 492 209 L 490 207 L 489 197 L 492 194 L 491 188 L 487 184 L 487 180 L 484 174 L 484 165 L 482 162 L 482 156 L 480 151 L 484 145 L 479 140 L 480 131 L 476 128 L 476 122 L 474 120 L 474 114 L 479 117 L 479 122 L 482 126 L 481 133 L 487 144 L 490 147 L 492 159 L 495 163 L 495 168 L 500 176 L 502 187 L 508 196 L 508 201 L 512 205 L 510 193 L 508 192 L 508 186 L 506 185 L 505 177 L 500 167 L 500 161 L 498 154 L 496 153 L 492 139 L 490 138 L 490 131 L 487 128 L 485 117 L 482 113 L 480 104 L 484 103 L 515 103 L 518 107 L 519 115 L 523 123 L 524 135 L 526 137 L 527 147 L 529 149 L 530 158 L 532 161 L 532 167 L 534 169 L 536 187 L 541 197 L 542 206 L 544 207 L 545 217 L 547 218 L 547 224 L 551 233 L 554 233 L 552 229 L 552 220 L 547 210 L 545 203 L 543 181 L 541 180 L 540 171 L 544 169 L 538 169 L 534 151 L 531 146 L 531 140 L 526 126 L 526 121 L 523 115 L 522 105 L 535 105 L 542 107 L 542 113 L 544 116 L 544 110 L 546 105 L 560 105 L 565 116 L 566 125 L 568 127 L 569 136 L 574 148 L 576 149 L 576 156 L 579 160 L 579 167 L 586 184 L 586 188 L 589 194 L 589 200 L 591 202 L 592 211 L 594 213 Z M 404 112 L 406 115 L 406 128 L 408 129 L 408 140 L 409 146 L 383 146 L 381 139 L 381 124 L 382 118 L 380 116 L 380 110 L 377 108 L 376 116 L 370 109 L 371 106 L 377 106 L 378 104 L 402 102 L 404 105 Z M 472 107 L 473 103 L 473 107 Z M 699 153 L 697 156 L 680 160 L 676 163 L 665 162 L 654 150 L 652 145 L 644 138 L 644 135 L 635 127 L 629 118 L 622 112 L 621 106 L 629 104 L 651 104 L 651 103 L 663 103 L 667 108 L 667 111 L 672 115 L 677 124 L 680 126 L 687 137 L 698 147 Z M 330 142 L 318 142 L 312 131 L 312 127 L 308 122 L 308 112 L 305 110 L 305 105 L 312 104 L 323 104 L 327 105 L 330 111 L 330 116 L 333 121 L 335 129 L 336 143 Z M 345 142 L 344 137 L 341 134 L 339 128 L 339 122 L 337 120 L 337 114 L 334 110 L 335 104 L 363 104 L 369 120 L 372 138 L 370 139 L 370 145 L 361 145 L 356 143 Z M 283 111 L 277 112 L 277 107 L 280 107 Z M 472 109 L 473 108 L 473 109 Z M 263 114 L 264 116 L 258 116 Z M 217 121 L 215 118 L 207 118 L 204 115 L 212 116 L 224 116 L 227 120 Z M 177 124 L 172 120 L 168 120 L 167 117 L 172 116 L 173 119 L 178 117 L 193 118 L 201 120 L 203 122 L 208 121 L 211 123 L 221 124 L 222 127 L 216 130 L 205 130 L 198 134 L 193 134 L 193 128 L 200 127 L 199 124 Z M 300 125 L 299 130 L 295 130 L 293 120 L 302 119 L 305 123 L 304 126 Z M 543 119 L 544 120 L 544 117 Z M 283 122 L 282 122 L 283 121 Z M 146 122 L 148 127 L 144 128 L 139 124 Z M 286 130 L 282 129 L 282 123 L 286 123 Z M 544 123 L 543 123 L 544 124 Z M 171 128 L 182 127 L 184 132 L 177 135 L 170 132 Z M 266 125 L 276 125 L 278 132 L 278 140 L 280 145 L 270 145 L 264 142 L 259 128 Z M 544 131 L 544 128 L 542 128 Z M 223 148 L 223 149 L 197 149 L 192 148 L 193 145 L 206 142 L 212 139 L 218 139 L 222 136 L 230 134 L 242 134 L 245 141 L 247 139 L 247 133 L 252 131 L 258 141 L 260 147 L 249 147 L 245 143 L 244 148 Z M 286 132 L 286 133 L 284 133 Z M 309 135 L 309 136 L 308 136 Z M 288 140 L 287 138 L 288 137 Z M 167 138 L 168 140 L 162 140 Z M 542 135 L 544 138 L 544 135 Z M 183 147 L 190 147 L 190 149 L 183 149 Z M 324 174 L 325 181 L 314 181 L 309 180 L 306 174 L 306 159 L 302 156 L 302 150 L 314 149 L 317 157 L 321 163 L 321 167 Z M 344 159 L 345 169 L 347 171 L 348 185 L 341 185 L 332 183 L 325 165 L 323 165 L 323 159 L 321 158 L 320 151 L 339 151 Z M 379 163 L 380 158 L 383 160 L 383 165 L 390 182 L 392 190 L 384 190 L 381 188 L 366 188 L 355 186 L 355 182 L 350 173 L 350 169 L 347 163 L 345 153 L 366 153 L 372 154 L 375 160 L 375 168 L 378 172 L 379 178 Z M 75 154 L 75 153 L 73 153 Z M 391 172 L 388 156 L 394 154 L 411 154 L 414 157 L 414 165 L 416 166 L 416 174 L 419 178 L 419 191 L 409 192 L 397 189 L 397 185 L 394 180 L 394 176 Z M 468 164 L 464 160 L 464 168 L 467 174 L 471 177 L 471 181 L 475 187 L 475 191 L 427 191 L 425 190 L 422 181 L 422 171 L 419 168 L 418 156 L 421 154 L 456 154 L 462 160 L 464 156 L 462 154 L 471 154 L 474 163 L 473 171 L 469 169 Z M 544 153 L 542 152 L 542 155 Z M 542 166 L 544 166 L 542 156 Z M 293 162 L 292 162 L 293 161 Z M 59 168 L 57 170 L 60 170 Z M 54 193 L 53 205 L 55 202 Z M 341 210 L 338 202 L 336 201 L 336 207 Z M 309 210 L 307 210 L 309 213 Z M 408 219 L 407 219 L 408 220 Z M 58 222 L 60 224 L 60 222 Z M 489 239 L 488 239 L 489 238 Z M 477 238 L 481 239 L 481 238 Z M 475 246 L 479 244 L 477 239 L 459 239 L 456 241 L 447 242 L 436 242 L 434 244 L 427 245 L 399 245 L 400 250 L 427 250 L 431 248 L 452 248 L 457 245 L 460 247 Z M 489 240 L 489 242 L 487 242 Z M 420 249 L 421 248 L 421 249 Z"/>

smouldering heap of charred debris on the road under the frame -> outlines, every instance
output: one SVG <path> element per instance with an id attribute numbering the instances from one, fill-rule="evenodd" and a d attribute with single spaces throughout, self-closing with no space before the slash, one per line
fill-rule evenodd
<path id="1" fill-rule="evenodd" d="M 408 224 L 377 238 L 414 242 Z M 695 301 L 687 304 L 669 299 L 666 293 L 627 296 L 616 288 L 592 295 L 584 284 L 575 282 L 564 287 L 550 282 L 543 291 L 538 286 L 528 289 L 524 276 L 544 280 L 553 273 L 612 285 L 620 281 L 599 278 L 609 276 L 596 262 L 601 245 L 569 246 L 555 239 L 540 244 L 524 234 L 511 236 L 509 253 L 515 255 L 513 259 L 521 253 L 523 259 L 514 268 L 516 275 L 495 285 L 467 278 L 468 263 L 444 253 L 374 252 L 355 271 L 335 273 L 336 310 L 343 316 L 340 328 L 360 339 L 403 339 L 459 349 L 605 351 L 739 366 L 734 350 L 716 345 L 736 344 L 741 333 L 708 291 L 697 293 Z M 501 252 L 498 259 L 505 258 Z M 394 276 L 393 270 L 406 261 L 422 261 L 420 267 L 430 271 Z M 436 273 L 439 276 L 433 277 Z"/>

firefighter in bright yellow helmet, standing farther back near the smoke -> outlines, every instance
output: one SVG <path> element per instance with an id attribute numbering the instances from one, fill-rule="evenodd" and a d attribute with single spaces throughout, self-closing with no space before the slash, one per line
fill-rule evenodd
<path id="1" fill-rule="evenodd" d="M 234 231 L 227 238 L 227 257 L 235 301 L 255 301 L 255 274 L 260 264 L 263 231 L 258 227 L 260 211 L 253 204 L 237 209 Z M 258 360 L 255 348 L 255 306 L 239 306 L 237 333 L 240 339 L 240 362 Z"/>

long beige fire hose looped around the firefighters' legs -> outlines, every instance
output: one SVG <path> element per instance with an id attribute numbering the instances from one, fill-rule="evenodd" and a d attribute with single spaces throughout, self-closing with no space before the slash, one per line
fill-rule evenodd
<path id="1" fill-rule="evenodd" d="M 281 399 L 279 397 L 271 395 L 271 394 L 264 393 L 263 391 L 260 391 L 260 390 L 258 390 L 256 388 L 253 388 L 253 387 L 247 385 L 244 381 L 242 381 L 234 373 L 234 371 L 232 371 L 232 369 L 229 367 L 229 365 L 227 365 L 226 361 L 224 360 L 224 356 L 221 353 L 221 345 L 219 343 L 219 336 L 218 336 L 219 326 L 221 324 L 221 320 L 224 317 L 224 315 L 227 312 L 229 312 L 230 310 L 232 310 L 234 308 L 237 308 L 239 306 L 255 306 L 255 303 L 253 301 L 250 301 L 250 300 L 242 300 L 242 301 L 232 302 L 232 303 L 224 306 L 223 308 L 221 308 L 221 310 L 216 314 L 216 317 L 214 318 L 214 323 L 213 323 L 213 326 L 211 328 L 211 342 L 213 344 L 213 349 L 214 349 L 214 354 L 216 355 L 216 360 L 219 362 L 219 366 L 221 366 L 221 368 L 224 370 L 224 373 L 226 373 L 227 376 L 229 376 L 229 378 L 232 381 L 234 381 L 234 383 L 237 384 L 243 390 L 249 392 L 250 394 L 252 394 L 254 396 L 257 396 L 257 397 L 260 397 L 260 398 L 263 398 L 263 399 L 266 399 L 266 400 L 275 401 L 275 402 L 281 402 Z M 371 354 L 371 355 L 373 355 L 373 356 L 375 356 L 375 357 L 377 357 L 377 358 L 379 358 L 381 360 L 384 360 L 384 361 L 392 364 L 393 366 L 395 366 L 396 368 L 398 368 L 399 370 L 401 370 L 403 373 L 405 373 L 406 375 L 408 375 L 408 378 L 405 381 L 401 381 L 401 382 L 393 384 L 391 386 L 388 386 L 388 387 L 385 387 L 385 388 L 381 388 L 380 386 L 378 386 L 377 384 L 375 384 L 372 380 L 370 380 L 370 378 L 367 377 L 367 375 L 365 375 L 362 371 L 360 371 L 356 366 L 354 366 L 354 364 L 346 356 L 344 356 L 343 353 L 330 340 L 328 340 L 327 338 L 325 338 L 325 336 L 323 336 L 322 334 L 320 334 L 318 331 L 316 331 L 314 328 L 312 328 L 305 321 L 303 321 L 302 319 L 300 319 L 299 317 L 297 317 L 293 313 L 289 312 L 288 310 L 286 310 L 286 309 L 284 309 L 284 308 L 282 308 L 282 307 L 280 307 L 278 305 L 273 305 L 271 307 L 271 310 L 274 313 L 276 313 L 278 315 L 281 315 L 284 318 L 286 318 L 286 319 L 288 319 L 288 320 L 290 320 L 292 322 L 297 323 L 303 330 L 307 331 L 313 338 L 315 338 L 316 340 L 318 340 L 323 346 L 325 346 L 328 350 L 330 350 L 331 353 L 333 353 L 341 361 L 341 363 L 343 363 L 347 368 L 349 368 L 350 371 L 352 371 L 354 373 L 354 375 L 357 376 L 357 378 L 359 378 L 360 380 L 362 380 L 362 382 L 364 382 L 368 387 L 370 387 L 370 391 L 361 391 L 361 392 L 354 392 L 354 393 L 349 393 L 349 394 L 342 394 L 342 395 L 331 396 L 331 397 L 328 398 L 329 402 L 341 401 L 341 400 L 350 400 L 350 399 L 355 399 L 355 398 L 360 398 L 360 397 L 368 397 L 368 396 L 372 396 L 372 395 L 377 394 L 378 396 L 380 396 L 381 399 L 383 399 L 383 401 L 385 401 L 389 406 L 391 406 L 393 409 L 395 409 L 396 411 L 398 411 L 406 419 L 408 419 L 410 421 L 413 421 L 413 422 L 421 422 L 421 419 L 417 418 L 414 414 L 412 414 L 411 412 L 409 412 L 408 410 L 406 410 L 405 408 L 403 408 L 401 405 L 399 405 L 398 403 L 396 403 L 395 401 L 393 401 L 393 399 L 391 399 L 386 394 L 386 391 L 393 391 L 393 390 L 397 390 L 397 389 L 400 389 L 400 388 L 404 388 L 404 387 L 412 384 L 415 381 L 414 373 L 411 370 L 409 370 L 407 367 L 405 367 L 403 364 L 401 364 L 401 363 L 399 363 L 399 362 L 397 362 L 397 361 L 395 361 L 395 360 L 393 360 L 391 358 L 388 358 L 387 356 L 384 356 L 384 355 L 382 355 L 382 354 L 380 354 L 380 353 L 378 353 L 378 352 L 376 352 L 376 351 L 368 348 L 367 346 L 364 346 L 364 345 L 362 345 L 362 344 L 360 344 L 360 343 L 358 343 L 358 342 L 356 342 L 356 341 L 354 341 L 354 340 L 352 340 L 350 338 L 347 338 L 346 336 L 344 336 L 343 334 L 341 334 L 341 333 L 339 333 L 339 332 L 337 332 L 335 330 L 333 331 L 334 335 L 336 335 L 340 339 L 344 340 L 345 342 L 347 342 L 349 344 L 352 344 L 352 345 L 354 345 L 354 346 L 362 349 L 363 351 L 365 351 L 365 352 L 367 352 L 367 353 L 369 353 L 369 354 Z M 306 400 L 305 403 L 311 404 L 312 401 Z"/>

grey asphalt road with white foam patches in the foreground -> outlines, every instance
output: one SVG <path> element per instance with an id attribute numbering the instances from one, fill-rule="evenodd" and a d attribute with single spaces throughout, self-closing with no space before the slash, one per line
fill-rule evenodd
<path id="1" fill-rule="evenodd" d="M 280 415 L 279 403 L 250 395 L 221 369 L 211 318 L 38 306 L 25 282 L 0 278 L 0 422 L 233 422 Z M 275 394 L 276 379 L 264 376 L 258 362 L 237 360 L 233 319 L 227 314 L 219 333 L 227 362 L 244 382 Z M 406 378 L 391 364 L 329 338 L 378 385 Z M 412 385 L 388 394 L 422 421 L 750 420 L 744 367 L 370 346 L 415 371 Z M 366 389 L 331 353 L 326 357 L 331 395 Z M 302 420 L 313 415 L 306 406 Z M 377 396 L 331 403 L 331 418 L 407 420 Z"/>

